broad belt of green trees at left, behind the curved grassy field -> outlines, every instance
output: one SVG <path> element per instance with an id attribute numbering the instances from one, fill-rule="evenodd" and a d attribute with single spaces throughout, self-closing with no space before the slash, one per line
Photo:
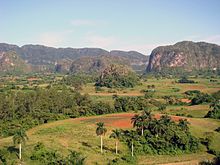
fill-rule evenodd
<path id="1" fill-rule="evenodd" d="M 108 104 L 91 101 L 88 95 L 66 87 L 0 94 L 0 136 L 13 135 L 18 124 L 29 129 L 50 121 L 111 112 Z"/>

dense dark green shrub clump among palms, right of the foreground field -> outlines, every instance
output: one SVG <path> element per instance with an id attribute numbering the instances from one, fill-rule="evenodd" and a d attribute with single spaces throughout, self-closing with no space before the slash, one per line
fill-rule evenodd
<path id="1" fill-rule="evenodd" d="M 188 122 L 180 120 L 175 123 L 168 116 L 160 119 L 147 120 L 143 123 L 144 135 L 137 130 L 122 130 L 122 141 L 127 142 L 129 148 L 132 143 L 136 153 L 148 154 L 177 154 L 196 152 L 199 140 L 189 132 Z M 137 125 L 138 126 L 138 125 Z"/>

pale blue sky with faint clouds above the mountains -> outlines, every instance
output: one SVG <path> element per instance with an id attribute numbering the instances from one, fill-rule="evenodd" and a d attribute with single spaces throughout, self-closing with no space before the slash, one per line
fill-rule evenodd
<path id="1" fill-rule="evenodd" d="M 220 45 L 220 0 L 0 0 L 0 42 L 149 55 L 179 41 Z"/>

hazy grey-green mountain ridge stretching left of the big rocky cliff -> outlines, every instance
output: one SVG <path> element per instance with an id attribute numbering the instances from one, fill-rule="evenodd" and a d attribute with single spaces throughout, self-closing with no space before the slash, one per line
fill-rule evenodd
<path id="1" fill-rule="evenodd" d="M 136 51 L 106 51 L 101 48 L 53 48 L 43 45 L 24 45 L 17 46 L 6 43 L 0 43 L 0 52 L 15 51 L 27 64 L 44 70 L 45 68 L 53 68 L 56 71 L 69 71 L 74 61 L 81 63 L 81 66 L 87 65 L 83 63 L 85 57 L 98 60 L 98 57 L 106 56 L 109 58 L 117 57 L 125 61 L 125 65 L 129 65 L 134 70 L 144 70 L 148 57 Z M 82 59 L 81 59 L 82 58 Z M 81 60 L 80 60 L 81 59 Z M 112 58 L 113 59 L 113 58 Z M 122 61 L 122 60 L 119 61 Z M 73 64 L 73 65 L 74 65 Z"/>

